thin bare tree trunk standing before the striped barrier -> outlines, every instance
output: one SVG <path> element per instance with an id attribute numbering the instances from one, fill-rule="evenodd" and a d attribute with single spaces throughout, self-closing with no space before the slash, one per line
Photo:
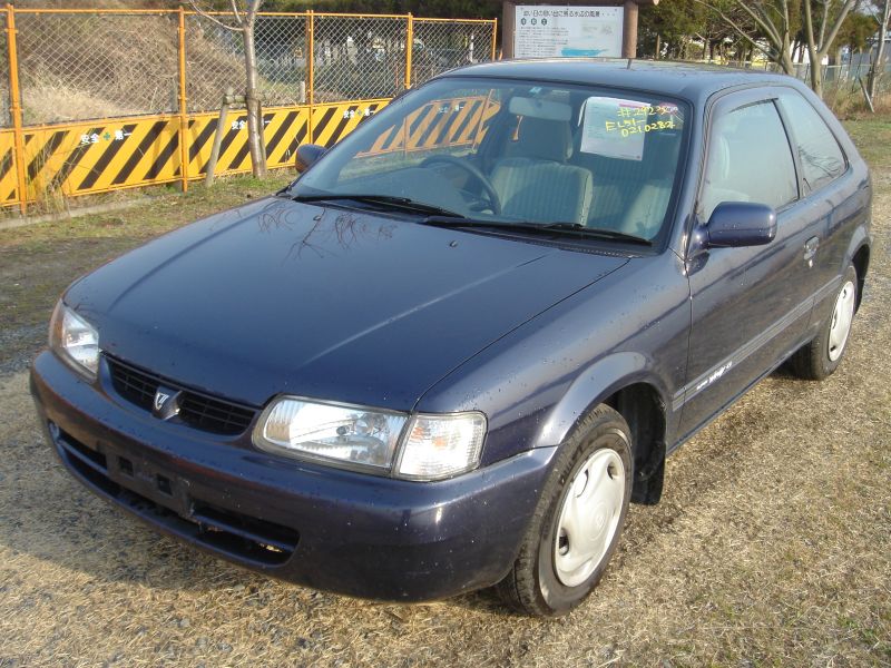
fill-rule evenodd
<path id="1" fill-rule="evenodd" d="M 245 8 L 238 10 L 236 0 L 232 2 L 231 17 L 210 13 L 198 6 L 198 0 L 188 0 L 192 8 L 205 19 L 217 26 L 241 32 L 244 42 L 245 91 L 244 99 L 247 107 L 247 149 L 251 151 L 251 170 L 255 177 L 266 176 L 266 151 L 263 147 L 263 116 L 261 114 L 260 95 L 257 91 L 257 52 L 254 45 L 254 24 L 257 11 L 264 0 L 245 0 Z M 228 19 L 228 20 L 226 20 Z"/>

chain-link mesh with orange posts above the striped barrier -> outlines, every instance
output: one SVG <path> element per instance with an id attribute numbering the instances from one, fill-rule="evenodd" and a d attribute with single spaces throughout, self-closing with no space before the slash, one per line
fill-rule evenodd
<path id="1" fill-rule="evenodd" d="M 227 88 L 245 88 L 243 36 L 219 24 L 234 24 L 224 13 L 182 12 L 180 36 L 178 10 L 7 12 L 14 12 L 17 24 L 25 126 L 183 111 L 180 77 L 187 112 L 214 111 Z M 254 36 L 261 99 L 286 107 L 386 99 L 447 69 L 488 60 L 496 24 L 408 14 L 265 13 Z M 4 33 L 2 127 L 11 125 L 7 41 Z"/>

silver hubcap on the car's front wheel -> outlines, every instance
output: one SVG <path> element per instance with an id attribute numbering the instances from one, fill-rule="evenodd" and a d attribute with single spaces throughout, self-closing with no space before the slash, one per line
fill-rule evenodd
<path id="1" fill-rule="evenodd" d="M 618 529 L 625 464 L 615 450 L 598 450 L 569 485 L 554 539 L 554 564 L 560 582 L 577 587 L 600 564 Z"/>

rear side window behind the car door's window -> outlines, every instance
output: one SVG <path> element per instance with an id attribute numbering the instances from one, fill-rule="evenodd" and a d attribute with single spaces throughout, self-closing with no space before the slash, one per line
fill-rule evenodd
<path id="1" fill-rule="evenodd" d="M 844 174 L 844 154 L 816 109 L 794 90 L 783 92 L 780 104 L 795 136 L 804 191 L 816 190 Z"/>

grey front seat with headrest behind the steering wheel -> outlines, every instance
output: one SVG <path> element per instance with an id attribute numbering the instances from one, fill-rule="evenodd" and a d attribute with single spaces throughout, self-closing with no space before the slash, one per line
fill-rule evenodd
<path id="1" fill-rule="evenodd" d="M 491 181 L 501 199 L 501 213 L 531 223 L 588 220 L 593 177 L 588 169 L 567 165 L 572 155 L 568 121 L 520 117 L 508 157 L 496 161 Z"/>

